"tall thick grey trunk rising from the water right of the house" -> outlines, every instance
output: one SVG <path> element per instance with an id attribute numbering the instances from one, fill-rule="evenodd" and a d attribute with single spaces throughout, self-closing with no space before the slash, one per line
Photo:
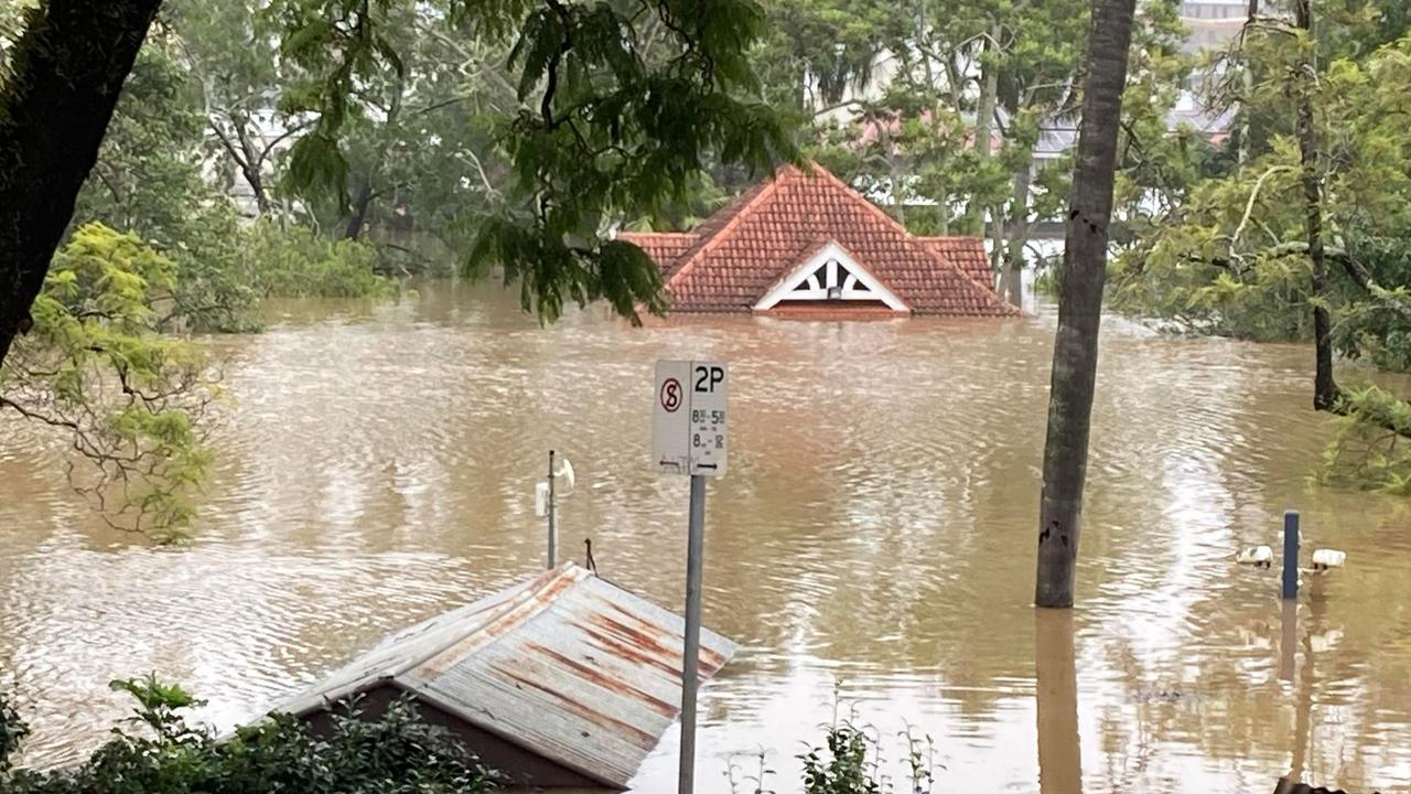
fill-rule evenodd
<path id="1" fill-rule="evenodd" d="M 1088 431 L 1098 374 L 1112 181 L 1134 7 L 1136 0 L 1092 3 L 1082 123 L 1064 239 L 1058 332 L 1048 391 L 1034 586 L 1034 603 L 1038 606 L 1072 606 L 1082 489 L 1088 473 Z"/>

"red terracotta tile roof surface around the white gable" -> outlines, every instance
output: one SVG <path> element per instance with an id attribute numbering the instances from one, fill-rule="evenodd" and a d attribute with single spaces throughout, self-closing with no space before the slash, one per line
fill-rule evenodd
<path id="1" fill-rule="evenodd" d="M 818 165 L 780 168 L 701 223 L 674 257 L 670 250 L 683 240 L 660 237 L 643 240 L 643 249 L 662 267 L 676 312 L 752 311 L 806 254 L 837 242 L 913 314 L 1020 314 L 995 295 L 988 264 L 976 278 L 976 263 L 985 263 L 981 240 L 914 237 Z"/>

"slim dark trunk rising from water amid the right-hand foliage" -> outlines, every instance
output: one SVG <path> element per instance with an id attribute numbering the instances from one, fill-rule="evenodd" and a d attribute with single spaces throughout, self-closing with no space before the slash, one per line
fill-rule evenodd
<path id="1" fill-rule="evenodd" d="M 1294 25 L 1308 34 L 1309 41 L 1301 47 L 1312 47 L 1312 8 L 1309 0 L 1294 3 Z M 1308 237 L 1308 259 L 1312 263 L 1314 304 L 1314 410 L 1329 411 L 1340 396 L 1332 377 L 1332 321 L 1328 316 L 1328 257 L 1322 235 L 1322 175 L 1318 164 L 1318 130 L 1314 126 L 1314 69 L 1309 57 L 1300 64 L 1300 73 L 1292 79 L 1298 93 L 1298 162 L 1304 184 L 1304 232 Z"/>

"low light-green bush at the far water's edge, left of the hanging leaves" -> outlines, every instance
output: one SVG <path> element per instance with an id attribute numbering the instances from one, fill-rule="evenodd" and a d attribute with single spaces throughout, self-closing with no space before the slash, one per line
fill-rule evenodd
<path id="1" fill-rule="evenodd" d="M 377 274 L 377 250 L 367 243 L 268 220 L 246 229 L 241 239 L 246 280 L 267 298 L 365 298 L 392 288 Z"/>

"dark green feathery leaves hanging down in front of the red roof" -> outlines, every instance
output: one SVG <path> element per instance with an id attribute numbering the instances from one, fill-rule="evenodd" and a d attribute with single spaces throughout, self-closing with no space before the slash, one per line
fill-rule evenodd
<path id="1" fill-rule="evenodd" d="M 519 280 L 525 307 L 546 321 L 566 301 L 597 298 L 634 319 L 638 307 L 663 311 L 656 266 L 631 246 L 605 243 L 608 229 L 682 203 L 707 161 L 762 174 L 794 155 L 779 117 L 748 99 L 755 79 L 746 55 L 765 20 L 752 0 L 278 7 L 285 54 L 310 78 L 286 93 L 285 107 L 319 114 L 291 153 L 289 182 L 340 199 L 344 123 L 378 117 L 361 89 L 404 68 L 378 44 L 388 20 L 413 14 L 467 42 L 512 41 L 505 68 L 522 106 L 495 130 L 509 179 L 495 189 L 497 218 L 476 219 L 467 270 L 498 267 Z"/>

